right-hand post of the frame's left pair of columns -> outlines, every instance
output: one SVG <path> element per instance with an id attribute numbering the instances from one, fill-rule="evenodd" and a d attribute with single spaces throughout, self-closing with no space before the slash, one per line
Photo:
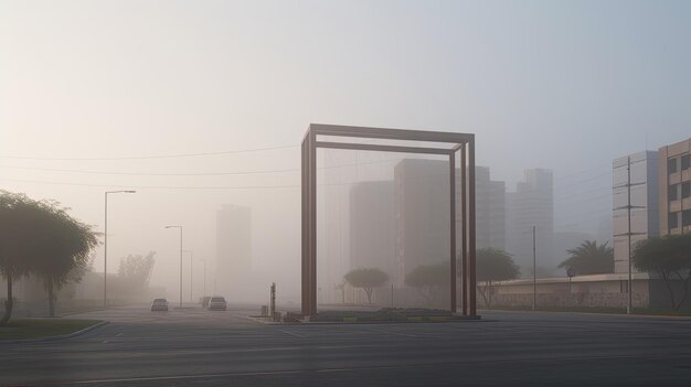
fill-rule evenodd
<path id="1" fill-rule="evenodd" d="M 317 133 L 316 130 L 309 131 L 309 185 L 310 185 L 310 203 L 309 203 L 309 223 L 310 246 L 309 246 L 309 315 L 317 313 Z"/>

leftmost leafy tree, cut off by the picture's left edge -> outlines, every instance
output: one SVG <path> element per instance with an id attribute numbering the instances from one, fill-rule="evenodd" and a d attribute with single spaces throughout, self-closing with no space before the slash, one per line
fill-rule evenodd
<path id="1" fill-rule="evenodd" d="M 23 194 L 0 191 L 0 275 L 7 281 L 8 298 L 0 325 L 12 316 L 12 284 L 26 277 L 39 262 L 31 255 L 33 225 L 39 217 L 38 202 Z"/>

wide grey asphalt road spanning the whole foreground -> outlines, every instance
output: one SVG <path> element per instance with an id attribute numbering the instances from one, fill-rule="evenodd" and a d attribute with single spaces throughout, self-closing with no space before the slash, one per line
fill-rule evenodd
<path id="1" fill-rule="evenodd" d="M 691 319 L 483 312 L 482 321 L 267 325 L 120 308 L 77 337 L 0 343 L 0 386 L 691 386 Z"/>

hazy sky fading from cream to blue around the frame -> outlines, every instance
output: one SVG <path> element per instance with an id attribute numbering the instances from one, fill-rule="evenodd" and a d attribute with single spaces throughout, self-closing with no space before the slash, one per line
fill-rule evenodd
<path id="1" fill-rule="evenodd" d="M 170 289 L 162 226 L 211 258 L 215 211 L 251 206 L 258 267 L 297 276 L 310 122 L 463 131 L 510 190 L 552 169 L 555 228 L 593 229 L 614 159 L 691 137 L 689 20 L 689 1 L 0 1 L 0 189 L 102 230 L 103 191 L 136 187 L 109 201 L 109 271 L 157 250 Z M 234 150 L 255 151 L 41 160 Z"/>

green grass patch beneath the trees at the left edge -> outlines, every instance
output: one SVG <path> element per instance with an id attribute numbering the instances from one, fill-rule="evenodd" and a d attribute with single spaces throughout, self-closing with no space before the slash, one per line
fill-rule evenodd
<path id="1" fill-rule="evenodd" d="M 59 336 L 81 331 L 99 320 L 17 319 L 0 326 L 0 341 Z"/>

